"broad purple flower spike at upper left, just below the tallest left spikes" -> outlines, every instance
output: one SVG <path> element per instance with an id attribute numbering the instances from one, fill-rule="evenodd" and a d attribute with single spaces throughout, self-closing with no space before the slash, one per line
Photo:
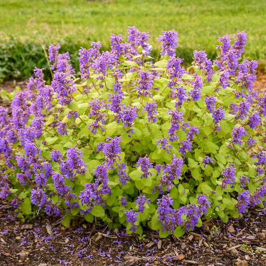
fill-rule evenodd
<path id="1" fill-rule="evenodd" d="M 51 86 L 57 93 L 58 102 L 62 105 L 67 105 L 72 101 L 72 93 L 76 92 L 72 78 L 69 78 L 67 73 L 54 72 L 54 78 L 51 82 Z"/>

